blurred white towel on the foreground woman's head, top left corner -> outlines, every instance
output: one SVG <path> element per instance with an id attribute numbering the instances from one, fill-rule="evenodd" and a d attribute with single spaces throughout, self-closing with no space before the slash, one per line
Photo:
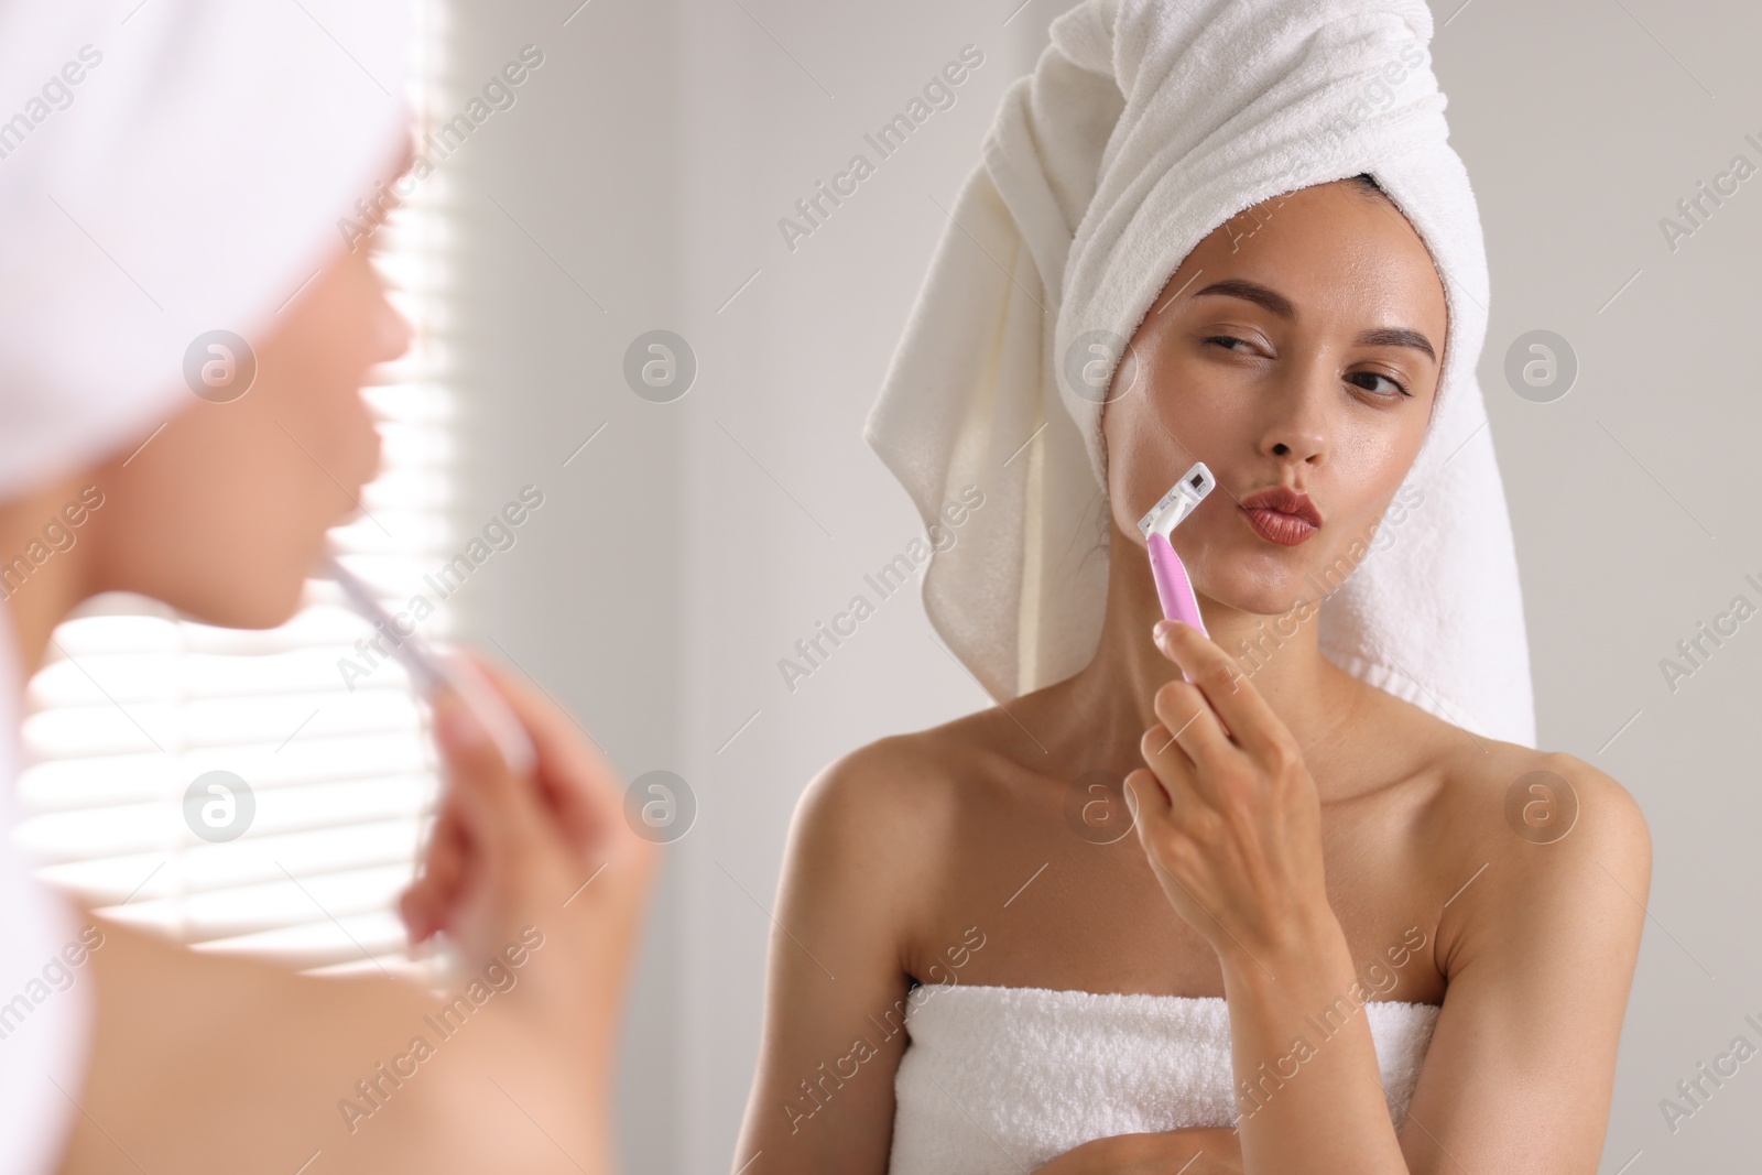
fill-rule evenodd
<path id="1" fill-rule="evenodd" d="M 261 342 L 342 255 L 409 33 L 407 0 L 0 0 L 0 500 L 197 403 L 192 344 Z"/>

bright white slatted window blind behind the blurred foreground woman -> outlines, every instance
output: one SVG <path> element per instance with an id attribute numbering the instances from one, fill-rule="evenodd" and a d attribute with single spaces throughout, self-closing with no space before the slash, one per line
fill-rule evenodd
<path id="1" fill-rule="evenodd" d="M 412 2 L 421 136 L 439 111 L 446 12 Z M 414 338 L 365 389 L 381 474 L 331 548 L 398 611 L 453 553 L 444 169 L 372 245 Z M 421 631 L 446 638 L 448 613 Z M 102 913 L 203 950 L 432 976 L 403 953 L 396 895 L 432 816 L 437 761 L 398 664 L 344 684 L 338 659 L 370 636 L 328 580 L 308 581 L 301 611 L 268 632 L 192 624 L 141 597 L 88 602 L 30 682 L 18 840 L 46 879 Z M 210 770 L 241 777 L 255 802 L 248 830 L 222 844 L 185 823 L 185 791 Z"/>

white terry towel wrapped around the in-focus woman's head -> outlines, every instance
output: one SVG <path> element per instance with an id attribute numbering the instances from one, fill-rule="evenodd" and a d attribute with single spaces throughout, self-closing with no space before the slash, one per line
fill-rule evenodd
<path id="1" fill-rule="evenodd" d="M 1061 372 L 1075 340 L 1129 340 L 1168 275 L 1242 210 L 1367 171 L 1431 250 L 1448 340 L 1397 493 L 1420 504 L 1327 595 L 1322 650 L 1450 722 L 1535 743 L 1517 558 L 1475 381 L 1485 247 L 1431 33 L 1422 0 L 1085 0 L 1010 86 L 865 426 L 927 523 L 951 486 L 987 495 L 932 557 L 923 602 L 992 698 L 1077 673 L 1099 639 L 1107 551 L 1087 548 L 1107 470 L 1099 398 Z"/>

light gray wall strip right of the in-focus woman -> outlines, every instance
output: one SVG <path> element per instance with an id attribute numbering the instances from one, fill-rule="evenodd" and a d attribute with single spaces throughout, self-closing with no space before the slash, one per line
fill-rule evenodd
<path id="1" fill-rule="evenodd" d="M 1434 12 L 1440 11 L 1434 7 Z M 1440 12 L 1440 25 L 1448 9 Z M 1739 594 L 1762 604 L 1755 435 L 1762 178 L 1676 252 L 1660 218 L 1736 153 L 1762 166 L 1750 4 L 1473 4 L 1440 28 L 1452 141 L 1487 229 L 1480 361 L 1535 661 L 1538 738 L 1621 780 L 1653 831 L 1653 888 L 1603 1171 L 1753 1170 L 1762 1073 L 1739 1069 L 1672 1133 L 1660 1099 L 1762 1034 L 1753 830 L 1762 620 L 1690 680 L 1660 669 Z M 1632 280 L 1632 284 L 1630 284 Z M 1503 377 L 1529 329 L 1579 381 L 1529 403 Z M 1619 735 L 1618 735 L 1619 731 Z M 1711 1085 L 1709 1085 L 1711 1089 Z"/>

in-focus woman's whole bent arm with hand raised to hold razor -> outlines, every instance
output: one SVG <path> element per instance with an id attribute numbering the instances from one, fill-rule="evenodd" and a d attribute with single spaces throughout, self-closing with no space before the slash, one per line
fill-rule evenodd
<path id="1" fill-rule="evenodd" d="M 1223 965 L 1233 1069 L 1253 1090 L 1237 1094 L 1242 1170 L 1595 1171 L 1651 874 L 1632 798 L 1549 759 L 1581 798 L 1572 835 L 1494 842 L 1478 891 L 1445 911 L 1448 990 L 1397 1140 L 1302 754 L 1203 634 L 1177 625 L 1165 650 L 1195 682 L 1158 691 L 1151 770 L 1128 787 L 1165 893 Z"/>

